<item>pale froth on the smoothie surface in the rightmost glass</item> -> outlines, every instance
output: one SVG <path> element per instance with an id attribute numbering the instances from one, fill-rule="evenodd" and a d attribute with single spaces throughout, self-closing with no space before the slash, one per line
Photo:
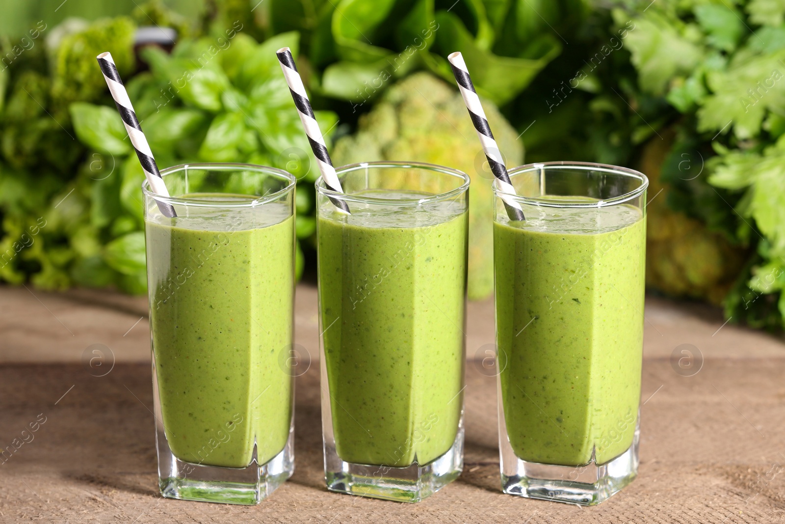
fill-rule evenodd
<path id="1" fill-rule="evenodd" d="M 641 220 L 641 210 L 627 204 L 608 207 L 535 207 L 526 208 L 524 222 L 509 225 L 542 233 L 597 234 L 626 228 Z"/>

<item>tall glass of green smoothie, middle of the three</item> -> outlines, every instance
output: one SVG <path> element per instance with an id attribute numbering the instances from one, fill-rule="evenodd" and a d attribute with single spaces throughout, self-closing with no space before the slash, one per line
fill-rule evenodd
<path id="1" fill-rule="evenodd" d="M 417 502 L 463 467 L 469 178 L 424 163 L 338 178 L 342 193 L 316 182 L 327 488 Z"/>

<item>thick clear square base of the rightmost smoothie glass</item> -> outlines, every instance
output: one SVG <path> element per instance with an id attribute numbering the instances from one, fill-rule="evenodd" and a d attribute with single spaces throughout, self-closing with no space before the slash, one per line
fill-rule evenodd
<path id="1" fill-rule="evenodd" d="M 618 493 L 637 476 L 638 440 L 605 464 L 557 466 L 520 460 L 502 439 L 502 490 L 510 495 L 594 506 Z"/>

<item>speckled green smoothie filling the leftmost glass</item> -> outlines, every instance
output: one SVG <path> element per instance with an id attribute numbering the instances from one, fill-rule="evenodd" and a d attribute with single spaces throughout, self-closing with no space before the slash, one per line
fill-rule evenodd
<path id="1" fill-rule="evenodd" d="M 247 467 L 255 443 L 265 464 L 289 437 L 292 378 L 279 354 L 292 342 L 294 219 L 269 203 L 156 221 L 145 237 L 170 449 L 189 463 Z"/>

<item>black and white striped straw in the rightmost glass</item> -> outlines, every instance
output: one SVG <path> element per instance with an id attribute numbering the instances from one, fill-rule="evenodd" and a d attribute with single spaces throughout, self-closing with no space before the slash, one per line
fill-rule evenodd
<path id="1" fill-rule="evenodd" d="M 506 207 L 509 219 L 524 220 L 524 211 L 521 210 L 520 203 L 502 194 L 515 195 L 515 188 L 509 181 L 509 174 L 507 174 L 507 168 L 504 165 L 502 152 L 498 150 L 498 145 L 496 145 L 496 141 L 491 133 L 491 126 L 488 126 L 483 106 L 480 104 L 480 97 L 477 96 L 477 92 L 474 90 L 474 84 L 469 76 L 469 68 L 466 67 L 466 62 L 463 61 L 461 53 L 451 53 L 447 60 L 450 60 L 452 74 L 455 75 L 455 81 L 458 82 L 458 90 L 461 91 L 463 102 L 466 104 L 466 109 L 469 110 L 469 116 L 474 123 L 477 137 L 480 138 L 485 158 L 496 177 L 496 187 L 500 190 L 499 198 L 504 201 L 504 207 Z"/>

